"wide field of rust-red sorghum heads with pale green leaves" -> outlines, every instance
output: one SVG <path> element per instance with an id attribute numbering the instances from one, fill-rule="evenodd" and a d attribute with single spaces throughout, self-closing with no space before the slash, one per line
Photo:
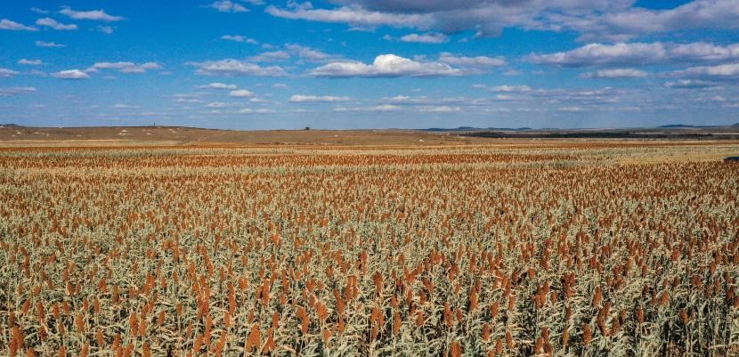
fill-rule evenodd
<path id="1" fill-rule="evenodd" d="M 0 355 L 737 355 L 736 152 L 0 150 Z"/>

